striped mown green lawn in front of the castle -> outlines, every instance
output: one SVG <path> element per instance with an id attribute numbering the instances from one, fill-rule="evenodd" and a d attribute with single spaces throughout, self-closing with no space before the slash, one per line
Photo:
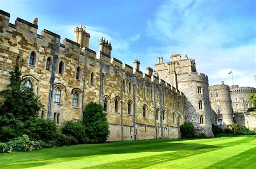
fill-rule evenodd
<path id="1" fill-rule="evenodd" d="M 256 168 L 254 136 L 116 141 L 0 154 L 0 168 Z"/>

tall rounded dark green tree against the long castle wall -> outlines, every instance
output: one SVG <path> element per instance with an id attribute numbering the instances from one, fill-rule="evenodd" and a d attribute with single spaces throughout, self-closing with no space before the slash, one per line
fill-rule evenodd
<path id="1" fill-rule="evenodd" d="M 83 125 L 85 134 L 90 140 L 97 143 L 104 143 L 109 136 L 109 124 L 103 107 L 97 103 L 89 103 L 83 112 Z"/>

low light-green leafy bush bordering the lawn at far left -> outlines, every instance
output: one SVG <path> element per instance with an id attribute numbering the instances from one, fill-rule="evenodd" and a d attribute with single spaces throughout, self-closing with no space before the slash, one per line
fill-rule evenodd
<path id="1" fill-rule="evenodd" d="M 41 141 L 31 141 L 28 136 L 23 135 L 0 145 L 1 152 L 32 151 L 42 148 Z"/>

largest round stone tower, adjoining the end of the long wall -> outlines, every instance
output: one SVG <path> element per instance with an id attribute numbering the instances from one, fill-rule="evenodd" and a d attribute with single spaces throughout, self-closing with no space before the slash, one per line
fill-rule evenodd
<path id="1" fill-rule="evenodd" d="M 214 137 L 208 77 L 197 72 L 180 73 L 177 83 L 178 89 L 185 95 L 185 121 L 191 121 L 197 133 L 204 132 L 207 137 Z"/>

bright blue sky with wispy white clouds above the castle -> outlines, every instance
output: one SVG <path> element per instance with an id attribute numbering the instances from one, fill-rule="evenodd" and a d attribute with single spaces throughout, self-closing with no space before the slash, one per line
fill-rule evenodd
<path id="1" fill-rule="evenodd" d="M 112 44 L 112 57 L 141 70 L 164 62 L 172 53 L 196 59 L 197 71 L 208 75 L 209 84 L 255 84 L 256 1 L 12 1 L 0 8 L 33 22 L 38 34 L 48 29 L 73 40 L 73 28 L 83 24 L 91 34 L 90 48 L 98 51 L 100 37 Z"/>

